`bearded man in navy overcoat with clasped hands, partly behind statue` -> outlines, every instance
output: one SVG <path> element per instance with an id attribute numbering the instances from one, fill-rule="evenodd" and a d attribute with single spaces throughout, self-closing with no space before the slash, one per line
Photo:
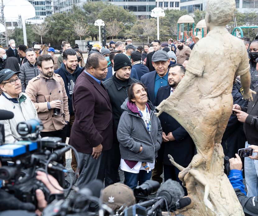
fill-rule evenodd
<path id="1" fill-rule="evenodd" d="M 168 86 L 159 88 L 153 105 L 158 106 L 161 101 L 167 99 L 176 90 L 178 83 L 185 76 L 185 68 L 180 64 L 172 65 L 168 71 Z M 172 179 L 182 182 L 178 178 L 180 172 L 171 164 L 168 154 L 172 155 L 175 161 L 183 167 L 187 167 L 194 156 L 195 145 L 187 131 L 169 114 L 162 113 L 159 116 L 162 126 L 163 143 L 158 151 L 158 160 L 163 162 L 164 181 Z M 162 163 L 161 162 L 161 163 Z M 155 164 L 156 167 L 156 164 Z M 160 171 L 160 174 L 162 172 Z M 184 188 L 187 194 L 186 188 Z"/>

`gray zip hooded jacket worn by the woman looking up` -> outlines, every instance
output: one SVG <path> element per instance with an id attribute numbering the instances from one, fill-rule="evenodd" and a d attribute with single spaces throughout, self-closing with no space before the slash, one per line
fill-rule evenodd
<path id="1" fill-rule="evenodd" d="M 150 101 L 147 103 L 150 108 L 151 133 L 148 132 L 134 103 L 130 103 L 127 98 L 121 106 L 124 111 L 119 120 L 117 139 L 122 159 L 153 163 L 158 156 L 162 143 L 162 128 L 159 118 L 154 115 L 154 106 Z M 141 146 L 142 151 L 139 152 Z"/>

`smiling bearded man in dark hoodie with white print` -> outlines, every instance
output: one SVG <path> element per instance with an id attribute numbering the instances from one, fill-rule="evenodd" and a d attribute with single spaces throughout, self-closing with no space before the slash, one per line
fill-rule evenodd
<path id="1" fill-rule="evenodd" d="M 67 131 L 67 137 L 70 136 L 71 127 L 75 119 L 75 115 L 72 109 L 72 94 L 74 85 L 77 77 L 81 74 L 82 68 L 79 67 L 77 61 L 76 51 L 73 49 L 67 49 L 63 52 L 63 63 L 61 64 L 61 68 L 55 70 L 56 74 L 59 74 L 64 80 L 65 90 L 68 97 L 68 107 L 70 113 L 70 121 L 69 121 L 69 131 Z M 76 171 L 77 169 L 77 161 L 72 150 L 72 161 L 71 168 Z M 79 177 L 79 173 L 76 173 L 76 176 Z"/>

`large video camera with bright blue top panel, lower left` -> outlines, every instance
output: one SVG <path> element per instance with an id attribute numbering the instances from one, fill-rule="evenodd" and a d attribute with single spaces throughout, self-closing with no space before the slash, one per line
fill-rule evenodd
<path id="1" fill-rule="evenodd" d="M 1 162 L 9 163 L 9 166 L 0 168 L 0 179 L 5 180 L 5 186 L 1 190 L 35 206 L 37 206 L 36 189 L 44 192 L 47 201 L 50 196 L 48 188 L 36 179 L 36 171 L 41 170 L 51 174 L 58 180 L 60 186 L 64 187 L 64 172 L 67 170 L 57 161 L 62 161 L 63 154 L 70 149 L 70 146 L 65 146 L 59 137 L 40 139 L 39 133 L 42 129 L 43 124 L 39 119 L 21 122 L 17 125 L 17 132 L 21 135 L 22 141 L 0 146 Z M 4 141 L 5 136 L 2 133 L 1 135 Z M 72 182 L 70 188 L 71 186 Z"/>

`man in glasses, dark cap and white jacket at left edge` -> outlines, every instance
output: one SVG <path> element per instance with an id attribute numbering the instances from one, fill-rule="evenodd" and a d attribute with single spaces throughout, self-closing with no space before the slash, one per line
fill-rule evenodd
<path id="1" fill-rule="evenodd" d="M 18 77 L 20 71 L 14 72 L 10 69 L 0 71 L 0 109 L 11 111 L 12 119 L 1 120 L 4 125 L 5 142 L 13 143 L 21 138 L 17 132 L 17 125 L 30 119 L 38 118 L 37 110 L 30 98 L 21 92 L 21 80 Z"/>

